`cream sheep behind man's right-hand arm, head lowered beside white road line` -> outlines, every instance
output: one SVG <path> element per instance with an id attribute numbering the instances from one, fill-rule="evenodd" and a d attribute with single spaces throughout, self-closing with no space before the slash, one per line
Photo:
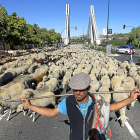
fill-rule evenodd
<path id="1" fill-rule="evenodd" d="M 123 91 L 125 90 L 123 87 L 117 87 L 114 91 Z M 116 93 L 116 94 L 113 94 L 113 101 L 114 102 L 119 102 L 119 101 L 122 101 L 124 99 L 128 98 L 128 95 L 127 93 Z M 124 127 L 124 123 L 125 123 L 125 120 L 128 119 L 126 116 L 125 116 L 125 110 L 126 110 L 126 106 L 124 106 L 123 108 L 119 109 L 119 113 L 120 113 L 120 117 L 117 119 L 117 120 L 120 120 L 121 121 L 121 126 Z"/>

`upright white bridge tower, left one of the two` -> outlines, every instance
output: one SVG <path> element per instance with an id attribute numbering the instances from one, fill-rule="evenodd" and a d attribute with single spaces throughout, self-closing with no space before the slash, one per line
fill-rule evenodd
<path id="1" fill-rule="evenodd" d="M 70 43 L 70 17 L 69 17 L 69 4 L 66 4 L 66 25 L 65 25 L 65 40 L 64 44 Z"/>

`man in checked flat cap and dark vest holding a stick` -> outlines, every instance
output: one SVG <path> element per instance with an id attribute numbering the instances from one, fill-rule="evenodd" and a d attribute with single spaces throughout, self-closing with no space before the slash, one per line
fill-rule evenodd
<path id="1" fill-rule="evenodd" d="M 26 98 L 21 98 L 23 105 L 39 114 L 53 117 L 59 114 L 67 113 L 70 120 L 70 139 L 87 140 L 93 128 L 93 120 L 96 113 L 95 97 L 89 94 L 91 79 L 88 74 L 80 72 L 70 79 L 69 86 L 73 89 L 74 95 L 69 96 L 58 104 L 55 109 L 41 108 L 31 105 Z M 110 111 L 116 111 L 134 101 L 139 95 L 139 89 L 135 88 L 131 96 L 123 101 L 110 104 Z M 108 118 L 109 120 L 109 118 Z M 95 131 L 94 131 L 95 132 Z"/>

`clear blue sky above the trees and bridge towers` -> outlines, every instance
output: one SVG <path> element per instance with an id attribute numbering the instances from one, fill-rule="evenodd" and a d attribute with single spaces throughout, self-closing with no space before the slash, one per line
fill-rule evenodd
<path id="1" fill-rule="evenodd" d="M 87 33 L 90 17 L 90 5 L 94 5 L 98 34 L 103 34 L 107 27 L 108 0 L 0 0 L 8 14 L 16 12 L 24 17 L 29 24 L 38 24 L 40 28 L 55 29 L 61 33 L 65 28 L 66 4 L 70 4 L 70 27 L 77 26 L 77 30 L 70 29 L 71 36 Z M 130 27 L 140 26 L 140 0 L 110 0 L 109 28 L 113 33 L 128 33 Z M 64 32 L 62 33 L 64 37 Z"/>

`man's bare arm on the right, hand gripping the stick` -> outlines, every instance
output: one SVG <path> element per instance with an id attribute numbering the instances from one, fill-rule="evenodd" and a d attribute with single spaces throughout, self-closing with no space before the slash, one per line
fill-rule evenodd
<path id="1" fill-rule="evenodd" d="M 116 110 L 119 110 L 119 109 L 123 108 L 124 106 L 126 106 L 126 105 L 130 104 L 131 102 L 133 102 L 134 100 L 136 100 L 138 95 L 140 95 L 140 89 L 135 88 L 131 92 L 131 95 L 130 95 L 129 98 L 124 99 L 124 100 L 122 100 L 120 102 L 110 104 L 110 111 L 116 111 Z"/>

